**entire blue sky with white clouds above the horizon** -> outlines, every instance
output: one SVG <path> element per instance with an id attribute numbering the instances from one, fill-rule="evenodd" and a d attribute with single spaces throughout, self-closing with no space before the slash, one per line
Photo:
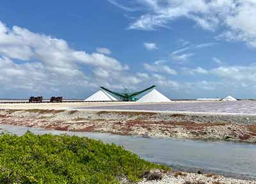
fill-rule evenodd
<path id="1" fill-rule="evenodd" d="M 171 99 L 256 98 L 256 0 L 0 2 L 0 98 L 155 84 Z"/>

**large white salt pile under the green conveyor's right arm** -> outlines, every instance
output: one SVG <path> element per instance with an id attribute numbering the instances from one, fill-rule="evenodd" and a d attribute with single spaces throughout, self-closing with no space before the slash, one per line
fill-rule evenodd
<path id="1" fill-rule="evenodd" d="M 156 89 L 153 89 L 146 95 L 142 96 L 137 102 L 171 102 L 171 100 Z"/>

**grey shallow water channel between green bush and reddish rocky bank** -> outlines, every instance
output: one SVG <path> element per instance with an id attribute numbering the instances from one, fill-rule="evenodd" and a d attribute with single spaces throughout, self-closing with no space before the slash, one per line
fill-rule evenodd
<path id="1" fill-rule="evenodd" d="M 145 138 L 89 132 L 65 132 L 0 125 L 0 132 L 22 135 L 27 130 L 34 134 L 65 134 L 90 137 L 124 146 L 150 162 L 172 166 L 174 169 L 223 174 L 234 178 L 256 180 L 256 144 L 235 142 L 195 141 L 184 139 Z"/>

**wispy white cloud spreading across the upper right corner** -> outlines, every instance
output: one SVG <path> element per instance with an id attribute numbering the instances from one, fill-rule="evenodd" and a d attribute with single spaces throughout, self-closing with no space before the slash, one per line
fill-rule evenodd
<path id="1" fill-rule="evenodd" d="M 152 31 L 170 27 L 172 22 L 186 18 L 202 29 L 217 32 L 218 39 L 246 42 L 256 47 L 256 1 L 255 0 L 145 0 L 132 1 L 140 7 L 136 20 L 129 29 Z M 143 7 L 143 8 L 141 8 Z M 121 7 L 120 7 L 121 8 Z M 143 11 L 142 11 L 143 10 Z"/>

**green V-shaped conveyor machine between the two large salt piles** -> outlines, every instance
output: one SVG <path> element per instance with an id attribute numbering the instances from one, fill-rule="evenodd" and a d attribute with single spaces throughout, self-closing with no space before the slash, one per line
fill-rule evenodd
<path id="1" fill-rule="evenodd" d="M 120 100 L 124 101 L 124 102 L 131 102 L 131 101 L 136 101 L 138 95 L 140 95 L 141 93 L 144 93 L 145 91 L 148 91 L 150 89 L 155 88 L 156 86 L 153 85 L 147 89 L 143 89 L 142 91 L 138 91 L 138 92 L 134 92 L 134 93 L 129 93 L 129 91 L 127 89 L 125 89 L 125 91 L 123 93 L 118 93 L 115 91 L 111 91 L 107 88 L 104 87 L 100 87 L 101 89 L 108 91 L 109 93 L 115 95 L 116 97 L 120 98 Z"/>

